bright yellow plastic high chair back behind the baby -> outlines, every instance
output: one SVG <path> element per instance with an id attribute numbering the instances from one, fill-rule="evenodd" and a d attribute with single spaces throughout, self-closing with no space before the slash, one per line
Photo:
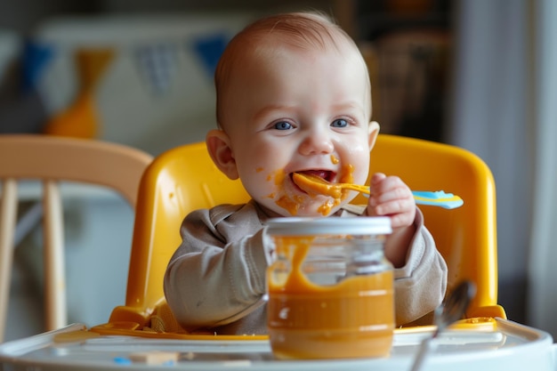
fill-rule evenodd
<path id="1" fill-rule="evenodd" d="M 381 134 L 371 152 L 375 172 L 397 174 L 412 190 L 445 190 L 464 199 L 464 206 L 453 210 L 421 206 L 425 224 L 448 263 L 448 289 L 464 278 L 477 285 L 467 317 L 505 318 L 497 305 L 496 194 L 488 166 L 454 146 Z M 163 276 L 181 243 L 186 214 L 248 200 L 241 182 L 216 168 L 205 143 L 158 156 L 143 174 L 138 197 L 125 306 L 112 311 L 113 328 L 148 326 L 149 316 L 165 302 Z M 366 200 L 359 196 L 354 202 Z"/>

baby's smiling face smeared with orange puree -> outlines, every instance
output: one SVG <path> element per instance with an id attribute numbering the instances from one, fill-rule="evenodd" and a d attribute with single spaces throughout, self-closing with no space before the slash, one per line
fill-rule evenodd
<path id="1" fill-rule="evenodd" d="M 239 177 L 257 202 L 282 215 L 322 216 L 355 197 L 309 195 L 295 172 L 363 183 L 369 168 L 367 74 L 353 52 L 283 48 L 231 79 L 224 130 Z"/>

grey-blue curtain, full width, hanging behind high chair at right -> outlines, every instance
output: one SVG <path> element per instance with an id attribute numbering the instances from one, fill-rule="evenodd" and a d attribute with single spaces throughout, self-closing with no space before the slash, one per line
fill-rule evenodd
<path id="1" fill-rule="evenodd" d="M 447 141 L 496 179 L 499 302 L 557 338 L 557 2 L 462 0 L 455 15 Z"/>

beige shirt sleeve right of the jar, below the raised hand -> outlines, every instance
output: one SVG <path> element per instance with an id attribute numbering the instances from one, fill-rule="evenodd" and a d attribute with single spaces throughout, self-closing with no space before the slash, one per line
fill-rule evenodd
<path id="1" fill-rule="evenodd" d="M 417 209 L 416 235 L 408 249 L 406 264 L 394 270 L 397 325 L 405 325 L 431 313 L 447 290 L 447 264 L 424 227 L 424 216 Z"/>

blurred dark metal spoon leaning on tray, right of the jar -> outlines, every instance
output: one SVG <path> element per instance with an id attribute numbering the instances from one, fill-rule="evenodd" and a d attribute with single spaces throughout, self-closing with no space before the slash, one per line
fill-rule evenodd
<path id="1" fill-rule="evenodd" d="M 425 355 L 431 349 L 432 340 L 435 339 L 448 326 L 455 323 L 458 319 L 462 319 L 464 312 L 470 305 L 472 298 L 476 294 L 476 286 L 471 281 L 463 281 L 455 287 L 447 299 L 440 304 L 434 311 L 435 331 L 432 336 L 426 337 L 420 344 L 416 359 L 412 365 L 411 371 L 418 371 L 424 363 Z"/>

